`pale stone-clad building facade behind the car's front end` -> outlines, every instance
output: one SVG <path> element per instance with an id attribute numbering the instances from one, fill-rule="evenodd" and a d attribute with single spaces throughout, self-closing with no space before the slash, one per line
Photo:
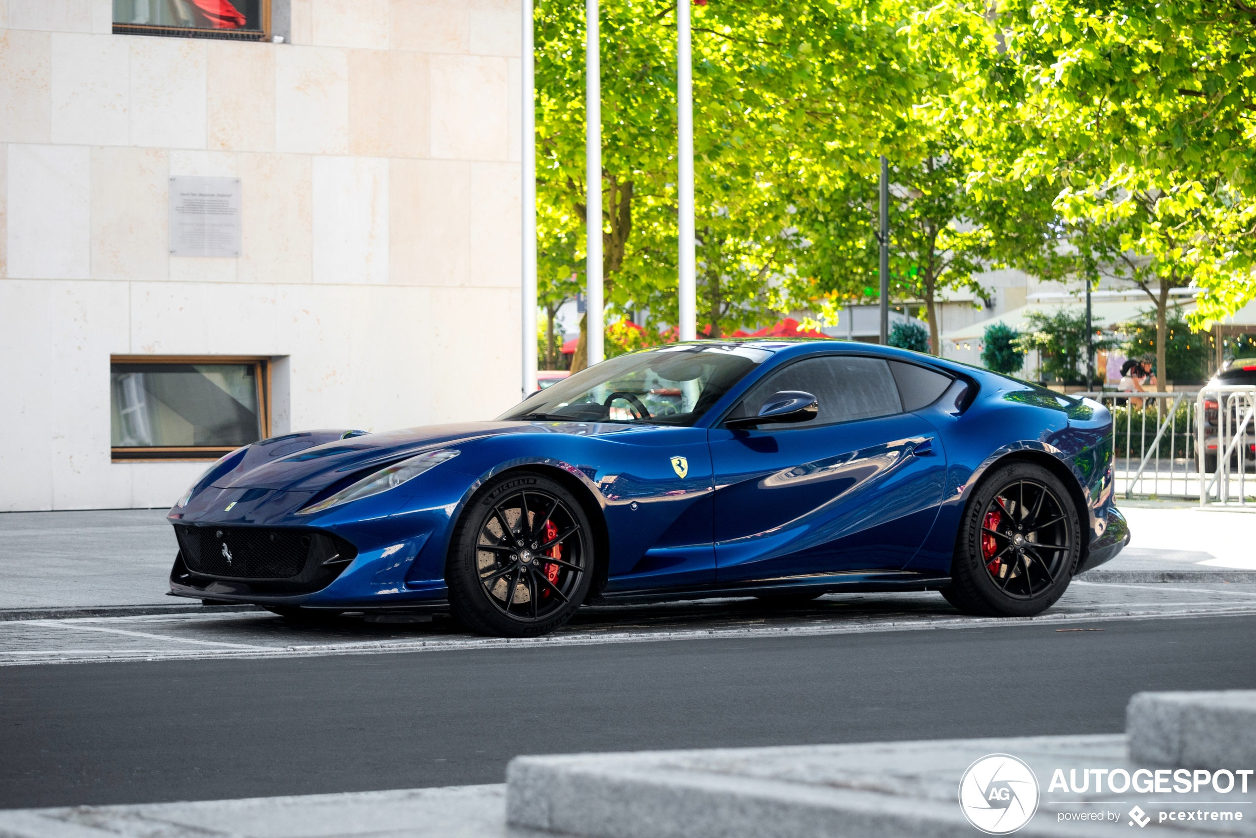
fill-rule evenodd
<path id="1" fill-rule="evenodd" d="M 227 39 L 0 0 L 0 510 L 172 503 L 241 431 L 163 381 L 245 436 L 519 401 L 519 4 L 255 3 Z M 171 255 L 186 176 L 239 183 L 237 256 Z"/>

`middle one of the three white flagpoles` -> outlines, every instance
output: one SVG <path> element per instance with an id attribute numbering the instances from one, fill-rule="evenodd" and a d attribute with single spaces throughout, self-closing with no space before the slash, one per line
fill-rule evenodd
<path id="1" fill-rule="evenodd" d="M 588 258 L 585 275 L 585 323 L 589 366 L 603 358 L 602 339 L 605 333 L 602 303 L 602 60 L 598 54 L 598 0 L 585 0 L 585 235 Z"/>

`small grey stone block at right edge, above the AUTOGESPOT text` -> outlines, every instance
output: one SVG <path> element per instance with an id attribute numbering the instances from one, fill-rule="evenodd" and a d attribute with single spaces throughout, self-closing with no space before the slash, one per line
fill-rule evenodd
<path id="1" fill-rule="evenodd" d="M 1189 769 L 1256 765 L 1256 690 L 1139 692 L 1125 709 L 1129 756 Z"/>

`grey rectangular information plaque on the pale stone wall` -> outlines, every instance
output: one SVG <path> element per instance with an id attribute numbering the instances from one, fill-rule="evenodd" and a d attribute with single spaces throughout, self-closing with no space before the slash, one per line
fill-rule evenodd
<path id="1" fill-rule="evenodd" d="M 170 255 L 240 255 L 240 178 L 170 178 Z"/>

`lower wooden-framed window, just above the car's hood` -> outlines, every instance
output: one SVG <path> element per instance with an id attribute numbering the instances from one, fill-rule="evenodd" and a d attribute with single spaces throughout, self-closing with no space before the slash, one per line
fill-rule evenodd
<path id="1" fill-rule="evenodd" d="M 217 460 L 270 436 L 270 361 L 113 356 L 113 460 Z"/>

